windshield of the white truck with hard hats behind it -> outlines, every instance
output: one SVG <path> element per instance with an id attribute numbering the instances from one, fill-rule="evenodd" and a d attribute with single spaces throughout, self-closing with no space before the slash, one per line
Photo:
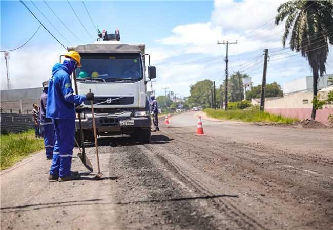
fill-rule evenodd
<path id="1" fill-rule="evenodd" d="M 140 54 L 81 55 L 82 67 L 75 70 L 79 81 L 93 83 L 142 79 Z"/>

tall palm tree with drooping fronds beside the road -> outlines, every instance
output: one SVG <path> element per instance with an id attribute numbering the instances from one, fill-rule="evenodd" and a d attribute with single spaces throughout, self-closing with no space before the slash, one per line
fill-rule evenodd
<path id="1" fill-rule="evenodd" d="M 275 24 L 285 21 L 282 38 L 285 47 L 290 34 L 290 49 L 301 52 L 312 69 L 314 98 L 317 97 L 319 76 L 326 73 L 328 44 L 333 44 L 333 0 L 295 0 L 281 4 L 275 17 Z M 316 108 L 312 107 L 311 118 L 316 118 Z"/>

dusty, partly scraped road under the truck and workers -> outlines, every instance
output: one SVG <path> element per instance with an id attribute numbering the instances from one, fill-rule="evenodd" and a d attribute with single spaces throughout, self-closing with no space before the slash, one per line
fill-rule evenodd
<path id="1" fill-rule="evenodd" d="M 99 181 L 73 158 L 81 180 L 49 182 L 42 152 L 2 171 L 1 228 L 333 229 L 332 129 L 203 119 L 196 136 L 197 115 L 148 145 L 98 139 Z"/>

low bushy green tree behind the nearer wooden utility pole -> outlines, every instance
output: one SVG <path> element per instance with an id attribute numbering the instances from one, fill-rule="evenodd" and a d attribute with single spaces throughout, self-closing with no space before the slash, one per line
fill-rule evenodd
<path id="1" fill-rule="evenodd" d="M 246 100 L 251 100 L 252 98 L 260 98 L 260 93 L 261 85 L 254 86 L 250 90 L 246 91 Z M 281 86 L 276 82 L 273 82 L 272 84 L 266 84 L 265 97 L 283 97 L 283 91 L 281 89 Z"/>

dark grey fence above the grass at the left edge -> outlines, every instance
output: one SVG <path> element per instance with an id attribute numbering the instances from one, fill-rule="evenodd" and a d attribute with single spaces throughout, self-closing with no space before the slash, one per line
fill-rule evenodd
<path id="1" fill-rule="evenodd" d="M 0 113 L 0 130 L 6 132 L 22 132 L 34 127 L 31 114 Z"/>

